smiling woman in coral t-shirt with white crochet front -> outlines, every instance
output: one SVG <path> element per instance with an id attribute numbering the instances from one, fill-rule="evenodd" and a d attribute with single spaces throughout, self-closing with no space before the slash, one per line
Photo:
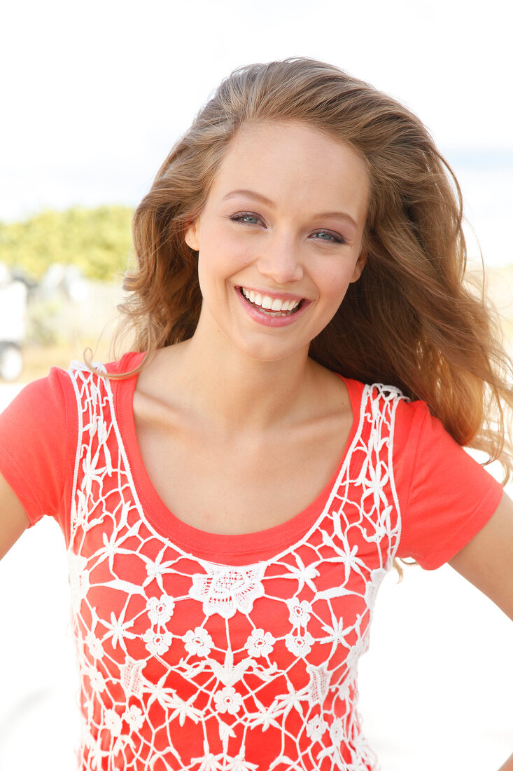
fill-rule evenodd
<path id="1" fill-rule="evenodd" d="M 462 449 L 511 473 L 511 362 L 458 183 L 404 106 L 287 59 L 221 84 L 133 235 L 132 351 L 0 422 L 3 551 L 44 513 L 68 544 L 79 767 L 374 769 L 357 662 L 394 561 L 513 618 L 513 504 Z"/>

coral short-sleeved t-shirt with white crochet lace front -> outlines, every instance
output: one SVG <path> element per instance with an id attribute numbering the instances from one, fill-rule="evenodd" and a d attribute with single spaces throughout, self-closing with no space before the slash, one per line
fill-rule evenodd
<path id="1" fill-rule="evenodd" d="M 424 402 L 344 381 L 354 419 L 330 483 L 244 535 L 196 530 L 159 499 L 136 440 L 136 376 L 74 362 L 2 412 L 0 473 L 31 524 L 49 514 L 65 535 L 81 771 L 374 768 L 357 662 L 377 589 L 394 557 L 451 559 L 502 488 Z"/>

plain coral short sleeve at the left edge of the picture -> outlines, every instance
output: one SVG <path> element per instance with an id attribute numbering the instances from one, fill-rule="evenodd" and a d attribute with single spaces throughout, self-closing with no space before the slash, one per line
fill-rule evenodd
<path id="1" fill-rule="evenodd" d="M 77 437 L 72 382 L 59 367 L 25 385 L 0 412 L 0 473 L 22 503 L 30 527 L 48 514 L 64 529 Z"/>

